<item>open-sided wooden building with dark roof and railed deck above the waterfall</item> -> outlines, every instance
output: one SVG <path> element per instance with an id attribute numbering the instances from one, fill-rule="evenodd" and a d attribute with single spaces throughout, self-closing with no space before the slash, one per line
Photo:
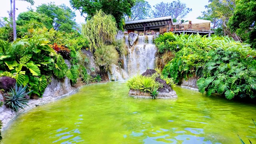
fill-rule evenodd
<path id="1" fill-rule="evenodd" d="M 200 34 L 209 35 L 213 33 L 210 21 L 194 19 L 190 22 L 181 24 L 173 22 L 171 16 L 161 18 L 151 18 L 146 20 L 134 20 L 125 22 L 125 30 L 128 33 L 135 32 L 139 35 L 154 35 L 173 32 L 177 34 Z"/>

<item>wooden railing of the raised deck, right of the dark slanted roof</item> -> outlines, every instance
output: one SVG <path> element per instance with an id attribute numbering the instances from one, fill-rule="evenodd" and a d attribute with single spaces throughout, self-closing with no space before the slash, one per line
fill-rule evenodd
<path id="1" fill-rule="evenodd" d="M 198 24 L 181 24 L 181 25 L 171 25 L 164 26 L 160 28 L 160 34 L 165 32 L 184 32 L 184 31 L 192 31 L 192 32 L 210 32 L 210 26 L 202 26 Z"/>

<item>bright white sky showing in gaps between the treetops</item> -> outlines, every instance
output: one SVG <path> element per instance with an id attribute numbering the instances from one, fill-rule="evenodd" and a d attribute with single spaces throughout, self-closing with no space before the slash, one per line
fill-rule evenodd
<path id="1" fill-rule="evenodd" d="M 146 0 L 153 7 L 154 5 L 160 2 L 172 2 L 173 0 Z M 69 0 L 34 0 L 34 6 L 31 6 L 33 9 L 36 9 L 36 6 L 39 6 L 44 3 L 55 2 L 55 4 L 66 4 L 70 6 Z M 208 4 L 208 0 L 180 0 L 180 2 L 185 3 L 188 8 L 192 8 L 192 12 L 188 13 L 188 15 L 184 18 L 184 20 L 193 20 L 198 16 L 201 16 L 201 12 L 205 11 L 205 7 Z M 30 4 L 28 2 L 18 1 L 16 0 L 16 17 L 21 12 L 27 11 Z M 71 8 L 71 6 L 70 6 Z M 7 11 L 10 10 L 10 0 L 0 0 L 0 17 L 8 17 Z M 81 24 L 84 22 L 84 17 L 80 16 L 80 12 L 76 11 L 76 22 Z"/>

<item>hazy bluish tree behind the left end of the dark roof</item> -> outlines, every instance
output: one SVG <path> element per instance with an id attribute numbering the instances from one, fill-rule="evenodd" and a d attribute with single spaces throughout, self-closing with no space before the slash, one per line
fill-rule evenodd
<path id="1" fill-rule="evenodd" d="M 132 15 L 126 16 L 126 21 L 143 20 L 150 17 L 151 6 L 145 0 L 136 0 L 134 6 L 131 8 Z"/>

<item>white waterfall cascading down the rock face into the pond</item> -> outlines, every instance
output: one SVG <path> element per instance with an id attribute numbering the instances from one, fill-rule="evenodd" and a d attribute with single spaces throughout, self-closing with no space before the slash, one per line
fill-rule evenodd
<path id="1" fill-rule="evenodd" d="M 110 81 L 128 79 L 136 74 L 142 74 L 147 69 L 155 68 L 156 46 L 153 44 L 154 36 L 124 36 L 127 46 L 127 55 L 122 55 L 124 69 L 120 65 L 111 65 L 108 71 Z M 134 45 L 130 46 L 130 42 Z M 121 58 L 121 59 L 122 59 Z"/>

